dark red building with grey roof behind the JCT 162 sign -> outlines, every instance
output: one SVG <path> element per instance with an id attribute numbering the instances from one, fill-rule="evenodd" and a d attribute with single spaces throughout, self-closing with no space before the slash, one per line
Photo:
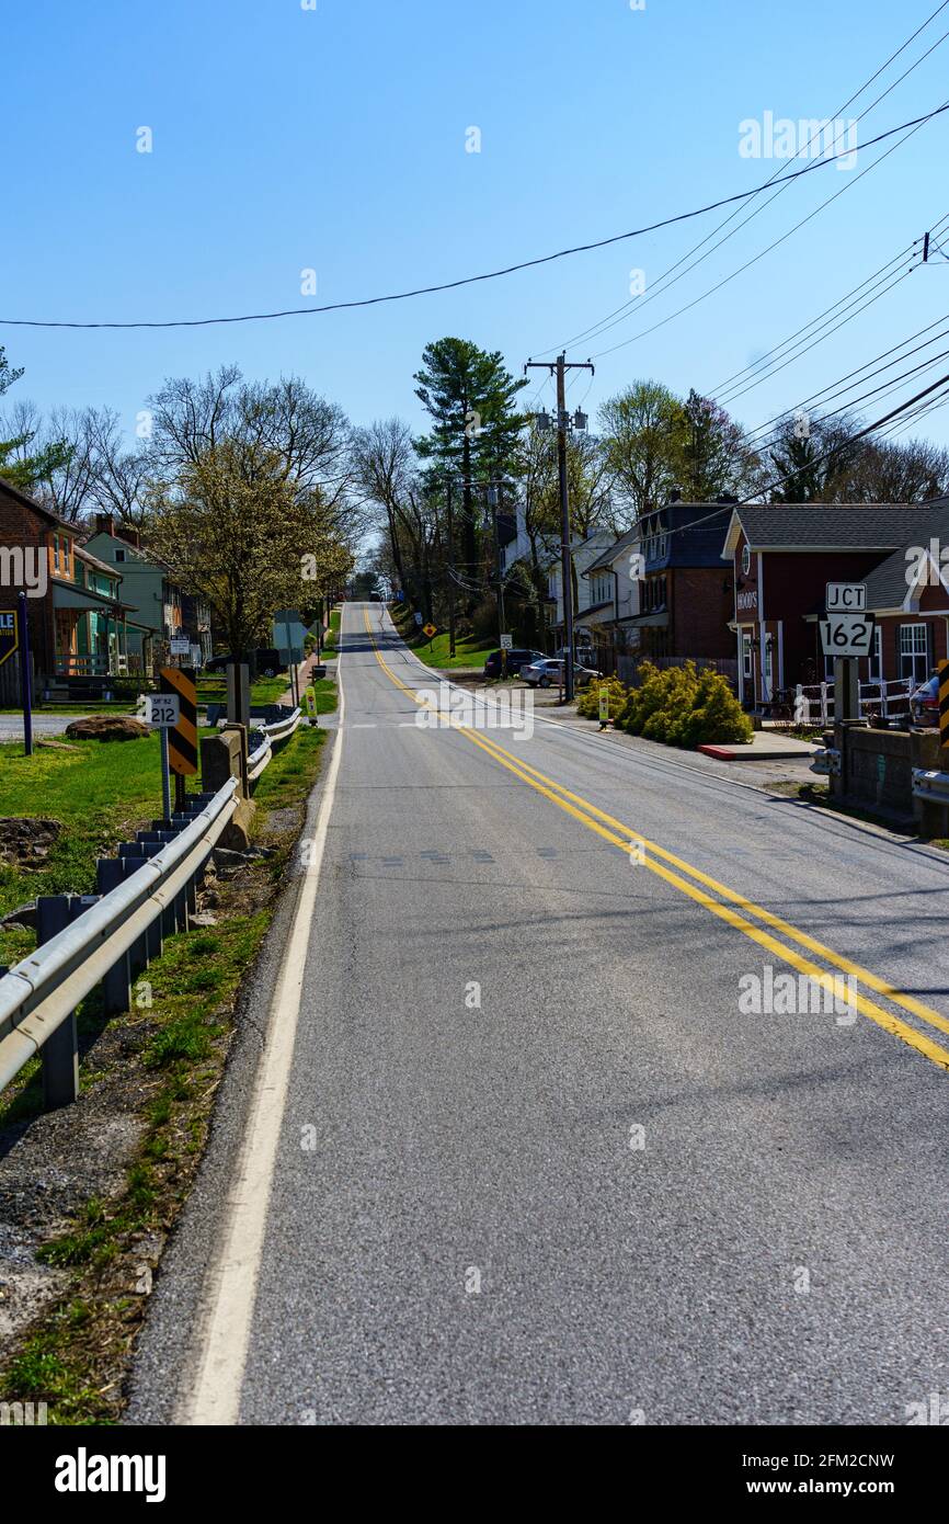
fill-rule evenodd
<path id="1" fill-rule="evenodd" d="M 827 582 L 867 584 L 877 623 L 861 681 L 922 681 L 946 657 L 949 504 L 742 506 L 733 509 L 722 558 L 734 576 L 730 628 L 746 709 L 798 683 L 833 678 L 818 629 Z"/>

